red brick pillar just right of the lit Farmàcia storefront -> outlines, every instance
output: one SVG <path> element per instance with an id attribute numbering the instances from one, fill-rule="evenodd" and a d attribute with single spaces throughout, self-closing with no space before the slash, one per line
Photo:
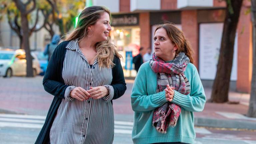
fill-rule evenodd
<path id="1" fill-rule="evenodd" d="M 140 46 L 144 47 L 144 50 L 142 51 L 143 55 L 151 45 L 150 31 L 149 13 L 140 13 Z"/>

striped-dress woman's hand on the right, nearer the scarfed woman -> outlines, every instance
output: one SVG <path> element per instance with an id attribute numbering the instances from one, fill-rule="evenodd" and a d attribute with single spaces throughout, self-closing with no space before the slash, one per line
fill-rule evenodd
<path id="1" fill-rule="evenodd" d="M 87 91 L 93 99 L 100 99 L 109 94 L 108 89 L 105 86 L 90 87 L 90 90 Z"/>

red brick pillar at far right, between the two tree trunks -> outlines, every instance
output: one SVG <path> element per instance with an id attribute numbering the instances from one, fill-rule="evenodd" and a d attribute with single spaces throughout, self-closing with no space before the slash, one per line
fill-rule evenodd
<path id="1" fill-rule="evenodd" d="M 252 79 L 252 24 L 251 15 L 245 15 L 248 6 L 243 5 L 238 23 L 237 90 L 250 92 Z"/>

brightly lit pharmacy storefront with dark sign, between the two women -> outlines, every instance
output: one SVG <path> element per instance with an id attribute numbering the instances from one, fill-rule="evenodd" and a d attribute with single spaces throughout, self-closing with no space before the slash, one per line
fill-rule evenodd
<path id="1" fill-rule="evenodd" d="M 111 26 L 111 42 L 123 56 L 124 75 L 135 76 L 132 57 L 139 53 L 140 48 L 139 14 L 113 14 Z"/>

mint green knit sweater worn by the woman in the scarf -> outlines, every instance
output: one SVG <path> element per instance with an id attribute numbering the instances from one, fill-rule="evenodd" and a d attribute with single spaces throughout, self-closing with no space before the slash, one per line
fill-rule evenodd
<path id="1" fill-rule="evenodd" d="M 149 66 L 149 61 L 141 65 L 135 78 L 131 104 L 134 111 L 132 140 L 134 144 L 149 144 L 159 142 L 184 142 L 193 144 L 196 134 L 194 130 L 194 113 L 204 109 L 206 101 L 204 89 L 196 67 L 189 63 L 185 71 L 191 85 L 188 95 L 177 91 L 173 103 L 181 106 L 181 114 L 177 125 L 169 127 L 166 134 L 157 132 L 152 125 L 153 112 L 166 103 L 165 91 L 156 93 L 157 75 Z"/>

